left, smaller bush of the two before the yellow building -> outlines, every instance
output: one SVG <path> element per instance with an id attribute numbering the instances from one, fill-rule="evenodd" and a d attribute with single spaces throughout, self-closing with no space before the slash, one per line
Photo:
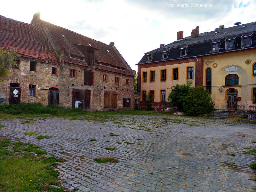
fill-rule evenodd
<path id="1" fill-rule="evenodd" d="M 168 101 L 170 102 L 170 105 L 176 104 L 177 109 L 179 111 L 183 111 L 183 103 L 185 101 L 185 97 L 188 93 L 189 88 L 191 87 L 192 81 L 188 80 L 186 84 L 182 85 L 175 85 L 168 89 L 172 89 L 173 92 L 169 94 Z"/>

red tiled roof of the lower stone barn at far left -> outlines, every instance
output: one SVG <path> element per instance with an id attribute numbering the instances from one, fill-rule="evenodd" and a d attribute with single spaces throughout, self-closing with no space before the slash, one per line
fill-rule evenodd
<path id="1" fill-rule="evenodd" d="M 57 60 L 44 31 L 0 16 L 0 47 L 17 49 L 20 56 L 42 60 Z"/>

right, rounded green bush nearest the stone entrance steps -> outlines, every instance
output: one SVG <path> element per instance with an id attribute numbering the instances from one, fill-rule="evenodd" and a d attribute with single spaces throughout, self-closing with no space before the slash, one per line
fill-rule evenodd
<path id="1" fill-rule="evenodd" d="M 212 97 L 203 85 L 190 87 L 183 102 L 184 114 L 188 116 L 209 114 L 212 110 L 212 104 Z"/>

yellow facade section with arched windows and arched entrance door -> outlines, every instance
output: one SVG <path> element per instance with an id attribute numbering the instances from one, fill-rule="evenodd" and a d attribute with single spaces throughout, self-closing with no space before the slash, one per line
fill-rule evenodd
<path id="1" fill-rule="evenodd" d="M 245 105 L 246 109 L 252 105 L 252 89 L 256 88 L 256 76 L 253 76 L 253 65 L 256 63 L 256 50 L 216 54 L 203 57 L 204 60 L 204 86 L 206 86 L 206 69 L 211 68 L 211 96 L 216 109 L 230 109 L 229 99 L 235 105 Z M 233 66 L 233 67 L 232 67 Z M 226 71 L 225 71 L 226 70 Z M 229 74 L 238 76 L 238 85 L 225 85 L 225 77 Z M 223 92 L 221 93 L 221 87 Z M 230 91 L 234 94 L 230 97 Z M 228 98 L 229 96 L 229 98 Z M 228 102 L 227 102 L 228 101 Z M 230 104 L 229 104 L 230 105 Z"/>

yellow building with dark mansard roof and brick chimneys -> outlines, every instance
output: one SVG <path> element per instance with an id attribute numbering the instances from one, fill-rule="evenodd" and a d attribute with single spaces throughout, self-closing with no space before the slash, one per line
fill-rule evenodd
<path id="1" fill-rule="evenodd" d="M 256 106 L 256 22 L 191 36 L 145 53 L 138 65 L 140 106 L 146 106 L 150 92 L 152 106 L 164 100 L 176 84 L 191 79 L 192 86 L 204 85 L 215 109 L 253 109 Z M 250 107 L 251 106 L 251 107 Z"/>

